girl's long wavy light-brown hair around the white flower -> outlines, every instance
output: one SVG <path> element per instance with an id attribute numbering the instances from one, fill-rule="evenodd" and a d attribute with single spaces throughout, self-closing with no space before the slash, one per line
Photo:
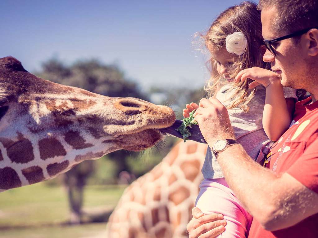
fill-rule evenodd
<path id="1" fill-rule="evenodd" d="M 269 64 L 262 60 L 263 53 L 260 48 L 263 44 L 260 11 L 257 10 L 257 5 L 253 2 L 246 1 L 223 11 L 202 37 L 208 50 L 220 50 L 226 47 L 226 36 L 236 31 L 244 34 L 247 40 L 247 47 L 242 55 L 233 54 L 233 64 L 230 67 L 229 76 L 235 78 L 241 70 L 253 66 L 269 69 Z M 209 93 L 209 96 L 215 96 L 224 79 L 217 72 L 216 60 L 211 58 L 209 63 L 211 65 L 211 77 L 204 89 Z M 248 88 L 251 82 L 251 79 L 247 79 L 232 86 L 229 91 L 234 97 L 231 98 L 228 109 L 240 106 L 245 112 L 248 111 L 249 107 L 247 104 L 251 101 L 256 91 L 255 88 Z"/>

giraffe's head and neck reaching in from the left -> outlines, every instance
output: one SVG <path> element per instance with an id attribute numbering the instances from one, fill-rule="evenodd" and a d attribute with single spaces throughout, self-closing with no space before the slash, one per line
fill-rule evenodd
<path id="1" fill-rule="evenodd" d="M 137 98 L 101 96 L 41 79 L 0 59 L 0 192 L 53 178 L 119 149 L 161 141 L 175 114 Z"/>

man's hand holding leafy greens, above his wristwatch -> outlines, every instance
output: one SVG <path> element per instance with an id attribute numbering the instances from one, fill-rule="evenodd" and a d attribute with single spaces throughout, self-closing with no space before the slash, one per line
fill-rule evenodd
<path id="1" fill-rule="evenodd" d="M 215 97 L 202 98 L 193 116 L 210 147 L 219 139 L 235 139 L 227 109 Z"/>

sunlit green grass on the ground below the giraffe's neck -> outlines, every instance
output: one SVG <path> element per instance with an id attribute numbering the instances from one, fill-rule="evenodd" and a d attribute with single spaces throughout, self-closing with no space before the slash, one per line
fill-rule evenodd
<path id="1" fill-rule="evenodd" d="M 118 202 L 123 186 L 87 186 L 84 190 L 84 210 L 112 210 Z M 0 194 L 0 237 L 84 237 L 68 236 L 73 230 L 89 226 L 105 229 L 105 223 L 81 226 L 56 226 L 69 219 L 66 190 L 47 182 L 15 188 Z M 55 226 L 52 226 L 55 224 Z M 25 228 L 31 226 L 29 228 Z M 93 228 L 92 228 L 93 229 Z M 62 232 L 63 230 L 63 232 Z M 89 229 L 88 229 L 89 230 Z M 94 229 L 93 229 L 94 231 Z M 91 231 L 92 232 L 92 231 Z M 13 235 L 14 233 L 14 235 Z M 27 234 L 50 234 L 31 235 Z M 86 234 L 86 233 L 85 233 Z M 86 236 L 89 235 L 89 232 Z"/>

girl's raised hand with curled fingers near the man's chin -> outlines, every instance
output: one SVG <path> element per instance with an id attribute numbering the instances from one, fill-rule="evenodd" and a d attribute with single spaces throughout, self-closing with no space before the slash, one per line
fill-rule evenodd
<path id="1" fill-rule="evenodd" d="M 273 83 L 280 83 L 279 75 L 275 72 L 263 69 L 259 67 L 252 67 L 249 69 L 243 69 L 239 74 L 235 77 L 234 82 L 238 83 L 240 80 L 244 81 L 245 79 L 250 78 L 254 80 L 248 87 L 250 89 L 255 88 L 256 86 L 262 84 L 264 87 L 267 87 Z"/>

